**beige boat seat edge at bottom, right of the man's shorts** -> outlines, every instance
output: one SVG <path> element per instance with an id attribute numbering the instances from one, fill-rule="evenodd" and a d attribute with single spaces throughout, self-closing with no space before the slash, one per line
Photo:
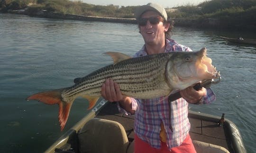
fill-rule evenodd
<path id="1" fill-rule="evenodd" d="M 230 153 L 226 148 L 197 140 L 192 141 L 197 153 Z"/>

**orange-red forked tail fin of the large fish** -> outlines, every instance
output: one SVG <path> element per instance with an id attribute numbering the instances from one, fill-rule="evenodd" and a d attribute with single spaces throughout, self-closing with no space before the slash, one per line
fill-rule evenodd
<path id="1" fill-rule="evenodd" d="M 43 102 L 46 104 L 58 104 L 59 105 L 59 123 L 61 127 L 61 131 L 64 129 L 65 124 L 68 119 L 69 111 L 72 106 L 72 103 L 75 98 L 71 98 L 68 102 L 63 100 L 63 97 L 61 96 L 62 91 L 65 88 L 57 89 L 53 91 L 47 91 L 47 92 L 41 92 L 41 93 L 35 93 L 31 96 L 27 97 L 26 100 L 37 100 L 38 102 Z"/>

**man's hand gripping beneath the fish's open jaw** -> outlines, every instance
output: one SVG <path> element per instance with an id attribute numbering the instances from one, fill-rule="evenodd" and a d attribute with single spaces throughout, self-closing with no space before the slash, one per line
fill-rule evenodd
<path id="1" fill-rule="evenodd" d="M 197 103 L 201 100 L 202 96 L 205 96 L 207 93 L 205 88 L 201 88 L 200 90 L 196 91 L 192 86 L 190 86 L 184 90 L 181 90 L 180 94 L 187 102 Z"/>

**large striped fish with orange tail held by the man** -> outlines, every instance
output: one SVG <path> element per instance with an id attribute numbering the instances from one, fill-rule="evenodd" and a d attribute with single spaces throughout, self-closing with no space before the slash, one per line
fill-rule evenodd
<path id="1" fill-rule="evenodd" d="M 151 99 L 168 96 L 201 80 L 219 76 L 206 49 L 198 52 L 168 52 L 130 58 L 118 52 L 107 52 L 114 64 L 100 68 L 82 78 L 75 85 L 33 94 L 27 100 L 59 105 L 59 122 L 63 130 L 73 101 L 81 96 L 91 109 L 101 97 L 101 85 L 107 78 L 118 83 L 122 94 L 133 98 Z"/>

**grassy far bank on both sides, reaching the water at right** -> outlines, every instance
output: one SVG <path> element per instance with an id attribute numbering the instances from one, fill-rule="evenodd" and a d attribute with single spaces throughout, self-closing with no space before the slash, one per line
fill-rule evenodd
<path id="1" fill-rule="evenodd" d="M 59 14 L 82 16 L 134 18 L 138 6 L 93 5 L 70 0 L 0 0 L 2 12 L 27 8 L 28 14 L 40 10 Z M 256 29 L 256 0 L 210 0 L 199 5 L 166 8 L 168 16 L 178 26 L 195 26 L 223 29 Z"/>

